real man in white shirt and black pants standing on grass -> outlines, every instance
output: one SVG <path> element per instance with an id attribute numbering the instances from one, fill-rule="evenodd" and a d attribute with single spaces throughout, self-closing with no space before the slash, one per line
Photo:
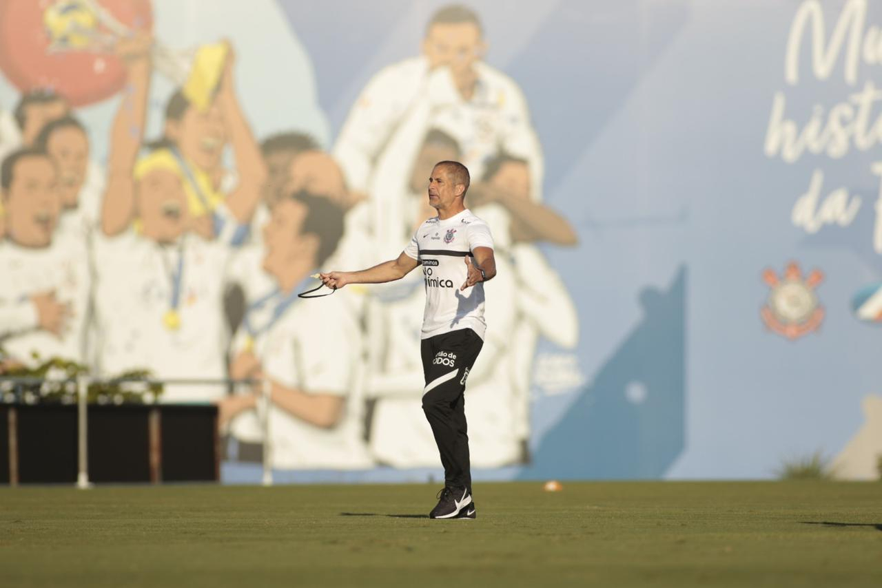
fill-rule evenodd
<path id="1" fill-rule="evenodd" d="M 391 282 L 422 264 L 422 411 L 445 469 L 445 488 L 430 518 L 475 518 L 463 392 L 487 329 L 482 282 L 496 275 L 496 261 L 490 227 L 465 206 L 468 183 L 460 162 L 437 163 L 429 178 L 429 204 L 437 217 L 417 228 L 398 259 L 361 272 L 321 274 L 326 287 L 340 288 Z"/>

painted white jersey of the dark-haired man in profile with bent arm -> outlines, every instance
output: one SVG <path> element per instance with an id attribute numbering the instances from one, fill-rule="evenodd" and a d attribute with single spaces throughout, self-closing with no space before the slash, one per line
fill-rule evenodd
<path id="1" fill-rule="evenodd" d="M 364 441 L 364 398 L 361 377 L 362 334 L 355 315 L 340 293 L 316 301 L 286 297 L 266 298 L 275 282 L 251 256 L 252 275 L 245 291 L 248 320 L 236 331 L 232 356 L 253 345 L 264 373 L 274 382 L 306 394 L 331 394 L 345 399 L 343 413 L 333 427 L 322 428 L 273 405 L 269 413 L 273 467 L 280 469 L 361 469 L 373 465 Z M 308 283 L 312 283 L 311 281 Z M 252 284 L 263 284 L 263 291 Z M 299 292 L 303 287 L 295 288 Z M 276 312 L 281 309 L 281 314 Z M 253 334 L 249 332 L 249 328 Z M 262 441 L 258 414 L 250 411 L 230 423 L 235 438 Z"/>

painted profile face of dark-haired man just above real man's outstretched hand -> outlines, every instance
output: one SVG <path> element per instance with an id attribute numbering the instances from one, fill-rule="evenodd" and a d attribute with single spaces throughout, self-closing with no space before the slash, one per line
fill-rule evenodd
<path id="1" fill-rule="evenodd" d="M 318 236 L 301 234 L 307 212 L 306 205 L 292 198 L 282 198 L 273 206 L 270 220 L 264 226 L 266 272 L 279 276 L 304 258 L 310 260 L 310 267 L 315 264 Z"/>

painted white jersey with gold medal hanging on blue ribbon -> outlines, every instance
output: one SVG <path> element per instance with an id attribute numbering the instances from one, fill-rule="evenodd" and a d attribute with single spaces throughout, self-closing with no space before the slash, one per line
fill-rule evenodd
<path id="1" fill-rule="evenodd" d="M 223 320 L 230 247 L 185 234 L 160 245 L 131 229 L 115 237 L 94 233 L 96 350 L 103 376 L 146 368 L 160 379 L 227 375 L 228 329 Z M 176 308 L 180 324 L 167 314 Z M 162 402 L 211 402 L 222 385 L 169 384 Z"/>

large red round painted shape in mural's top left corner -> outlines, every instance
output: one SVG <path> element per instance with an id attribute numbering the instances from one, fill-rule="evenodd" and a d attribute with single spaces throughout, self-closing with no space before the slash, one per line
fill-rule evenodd
<path id="1" fill-rule="evenodd" d="M 0 71 L 22 92 L 49 88 L 72 106 L 85 106 L 118 92 L 125 82 L 119 58 L 92 50 L 50 51 L 43 13 L 55 0 L 0 0 Z M 151 30 L 150 0 L 99 0 L 131 29 Z"/>

